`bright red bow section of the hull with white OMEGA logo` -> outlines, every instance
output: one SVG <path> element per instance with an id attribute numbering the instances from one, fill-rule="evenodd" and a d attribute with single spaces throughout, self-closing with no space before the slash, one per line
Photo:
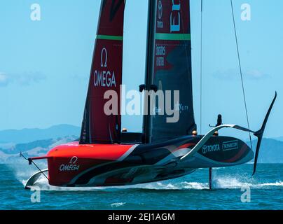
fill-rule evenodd
<path id="1" fill-rule="evenodd" d="M 78 142 L 57 146 L 48 153 L 48 179 L 52 186 L 64 186 L 91 167 L 118 161 L 132 145 L 93 144 Z"/>

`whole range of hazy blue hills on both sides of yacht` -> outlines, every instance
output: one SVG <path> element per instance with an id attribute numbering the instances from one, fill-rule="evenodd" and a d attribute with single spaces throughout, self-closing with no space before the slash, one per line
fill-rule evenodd
<path id="1" fill-rule="evenodd" d="M 22 160 L 19 153 L 29 157 L 45 155 L 51 148 L 75 141 L 80 127 L 57 125 L 48 129 L 24 129 L 0 131 L 0 163 Z M 283 138 L 263 139 L 258 157 L 260 163 L 283 163 Z M 249 145 L 249 143 L 247 142 Z M 252 141 L 254 149 L 256 140 Z"/>

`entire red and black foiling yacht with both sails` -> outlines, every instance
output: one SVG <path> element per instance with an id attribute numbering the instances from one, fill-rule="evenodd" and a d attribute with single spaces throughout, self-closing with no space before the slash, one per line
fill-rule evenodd
<path id="1" fill-rule="evenodd" d="M 174 179 L 200 168 L 242 165 L 254 157 L 256 172 L 261 139 L 276 95 L 257 132 L 222 125 L 220 120 L 207 134 L 198 135 L 193 111 L 189 0 L 149 0 L 145 82 L 137 87 L 152 94 L 179 91 L 179 106 L 172 105 L 179 110 L 179 120 L 167 122 L 167 116 L 156 110 L 154 115 L 144 114 L 141 133 L 131 133 L 122 131 L 120 114 L 104 113 L 109 100 L 105 92 L 119 92 L 123 85 L 125 3 L 102 0 L 79 141 L 56 146 L 46 156 L 28 158 L 30 165 L 47 160 L 48 169 L 34 174 L 26 188 L 42 175 L 51 186 L 127 186 Z M 120 111 L 120 94 L 117 100 Z M 149 104 L 149 108 L 160 108 L 159 102 Z M 217 132 L 223 128 L 258 137 L 256 155 L 244 141 L 219 136 Z"/>

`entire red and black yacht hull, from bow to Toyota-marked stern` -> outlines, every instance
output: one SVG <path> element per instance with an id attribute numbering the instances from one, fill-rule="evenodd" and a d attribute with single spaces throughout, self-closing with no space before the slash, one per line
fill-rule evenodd
<path id="1" fill-rule="evenodd" d="M 160 144 L 57 146 L 46 157 L 51 186 L 124 186 L 174 179 L 195 169 L 249 162 L 251 149 L 239 139 L 212 137 L 188 160 L 181 160 L 202 137 L 181 137 Z M 228 144 L 233 142 L 234 144 Z M 211 146 L 217 146 L 212 148 Z M 226 146 L 226 148 L 223 148 Z M 231 148 L 227 148 L 231 147 Z M 233 147 L 233 148 L 232 148 Z"/>

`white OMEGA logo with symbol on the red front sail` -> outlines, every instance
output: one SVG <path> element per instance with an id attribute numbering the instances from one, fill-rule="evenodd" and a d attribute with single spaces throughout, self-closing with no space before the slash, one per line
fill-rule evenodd
<path id="1" fill-rule="evenodd" d="M 102 48 L 100 70 L 96 69 L 93 77 L 95 87 L 116 87 L 115 72 L 107 69 L 108 53 Z"/>

